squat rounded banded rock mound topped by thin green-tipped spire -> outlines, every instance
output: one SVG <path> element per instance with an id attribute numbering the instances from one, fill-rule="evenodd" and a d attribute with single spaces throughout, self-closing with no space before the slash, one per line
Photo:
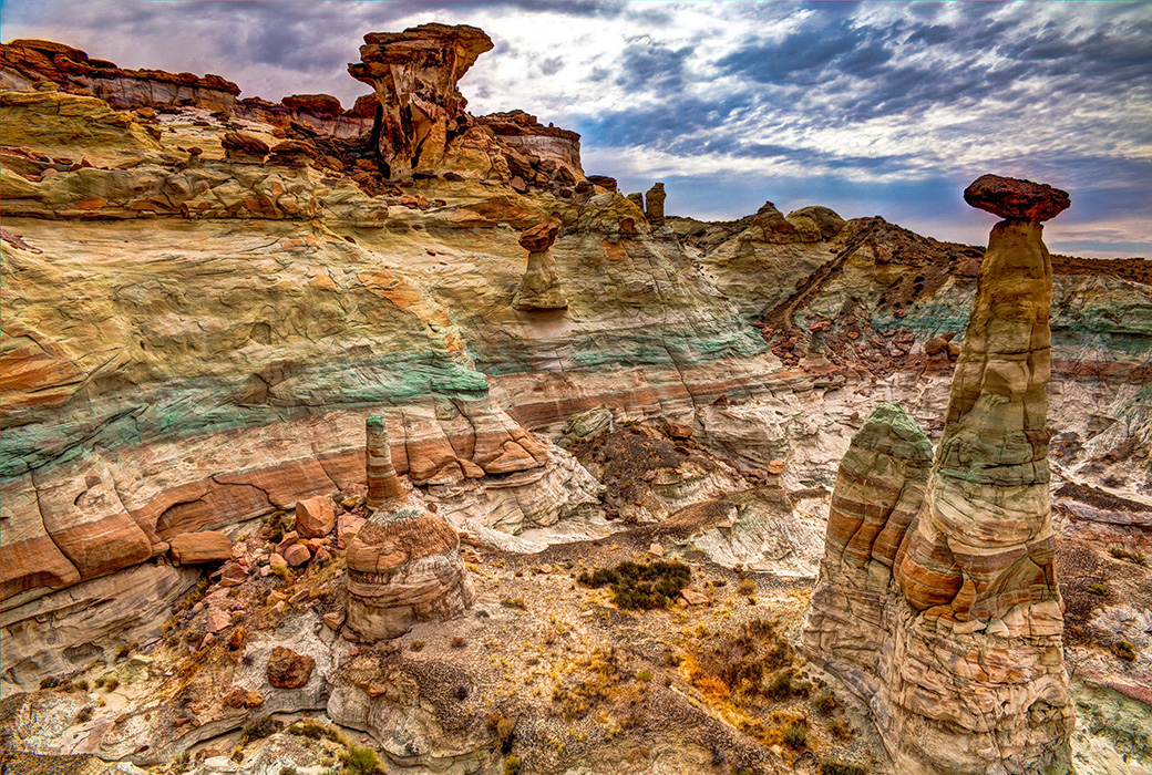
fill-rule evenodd
<path id="1" fill-rule="evenodd" d="M 472 585 L 453 527 L 406 496 L 380 417 L 367 420 L 369 497 L 385 500 L 348 545 L 348 626 L 369 643 L 458 616 Z"/>

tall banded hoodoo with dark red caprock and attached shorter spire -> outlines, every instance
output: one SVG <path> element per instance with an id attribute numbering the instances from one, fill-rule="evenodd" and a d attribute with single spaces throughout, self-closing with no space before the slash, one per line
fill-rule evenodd
<path id="1" fill-rule="evenodd" d="M 1074 713 L 1047 464 L 1052 261 L 1031 219 L 1068 198 L 1026 181 L 1005 187 L 1010 197 L 973 188 L 978 206 L 1008 218 L 980 265 L 927 495 L 908 519 L 881 485 L 889 459 L 861 474 L 877 431 L 854 439 L 804 640 L 870 699 L 900 772 L 1067 773 Z M 920 449 L 897 468 L 923 464 Z M 899 481 L 915 504 L 907 481 L 916 478 Z M 878 530 L 862 503 L 890 503 L 893 516 Z"/>

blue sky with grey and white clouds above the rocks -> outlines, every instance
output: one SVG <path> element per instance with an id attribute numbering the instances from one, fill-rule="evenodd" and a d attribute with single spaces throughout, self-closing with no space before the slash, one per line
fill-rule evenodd
<path id="1" fill-rule="evenodd" d="M 581 132 L 588 174 L 662 181 L 669 214 L 821 204 L 983 244 L 985 173 L 1071 195 L 1054 252 L 1152 257 L 1152 2 L 5 0 L 0 37 L 215 73 L 242 97 L 367 91 L 362 37 L 493 39 L 460 89 Z"/>

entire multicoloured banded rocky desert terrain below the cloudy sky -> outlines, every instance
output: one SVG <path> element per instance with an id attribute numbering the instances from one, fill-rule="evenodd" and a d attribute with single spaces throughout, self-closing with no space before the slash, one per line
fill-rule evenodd
<path id="1" fill-rule="evenodd" d="M 1149 261 L 992 175 L 987 249 L 673 215 L 469 114 L 491 48 L 369 33 L 346 109 L 0 46 L 5 766 L 1152 766 Z"/>

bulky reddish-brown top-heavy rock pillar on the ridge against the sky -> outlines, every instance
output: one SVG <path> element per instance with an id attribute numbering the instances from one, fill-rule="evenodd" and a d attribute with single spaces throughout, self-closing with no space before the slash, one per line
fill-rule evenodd
<path id="1" fill-rule="evenodd" d="M 422 24 L 403 32 L 370 32 L 361 61 L 348 66 L 376 89 L 380 155 L 393 177 L 434 167 L 450 137 L 467 128 L 468 100 L 456 83 L 492 39 L 475 26 Z"/>

